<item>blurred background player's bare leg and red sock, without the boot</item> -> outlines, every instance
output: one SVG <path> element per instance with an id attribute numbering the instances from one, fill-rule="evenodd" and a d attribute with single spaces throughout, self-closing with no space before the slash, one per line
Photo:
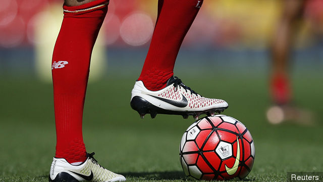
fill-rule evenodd
<path id="1" fill-rule="evenodd" d="M 291 100 L 289 83 L 289 57 L 295 24 L 302 16 L 303 0 L 286 0 L 283 13 L 272 43 L 271 93 L 275 104 L 287 104 Z"/>

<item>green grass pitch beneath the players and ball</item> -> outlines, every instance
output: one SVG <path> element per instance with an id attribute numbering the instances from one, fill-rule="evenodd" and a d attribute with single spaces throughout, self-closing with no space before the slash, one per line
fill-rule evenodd
<path id="1" fill-rule="evenodd" d="M 255 162 L 247 181 L 286 181 L 287 171 L 323 171 L 322 77 L 296 76 L 296 103 L 316 114 L 312 126 L 270 125 L 264 76 L 181 76 L 205 97 L 225 99 L 224 114 L 242 121 L 255 143 Z M 192 117 L 146 115 L 130 108 L 135 77 L 89 83 L 83 136 L 99 163 L 128 181 L 186 181 L 179 143 Z M 47 181 L 55 155 L 52 86 L 34 78 L 0 78 L 0 181 Z"/>

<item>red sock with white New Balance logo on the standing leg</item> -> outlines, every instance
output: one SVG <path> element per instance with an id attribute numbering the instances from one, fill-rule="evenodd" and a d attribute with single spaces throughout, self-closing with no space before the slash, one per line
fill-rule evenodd
<path id="1" fill-rule="evenodd" d="M 56 121 L 56 157 L 86 160 L 82 116 L 90 58 L 109 0 L 63 6 L 64 19 L 52 56 Z"/>

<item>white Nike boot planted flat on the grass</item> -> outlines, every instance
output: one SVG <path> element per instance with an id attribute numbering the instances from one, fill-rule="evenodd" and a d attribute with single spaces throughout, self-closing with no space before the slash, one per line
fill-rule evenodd
<path id="1" fill-rule="evenodd" d="M 52 182 L 108 182 L 108 181 L 125 181 L 123 175 L 116 174 L 100 166 L 93 158 L 94 152 L 87 154 L 87 159 L 79 164 L 72 165 L 64 158 L 53 158 L 50 171 L 49 181 Z"/>

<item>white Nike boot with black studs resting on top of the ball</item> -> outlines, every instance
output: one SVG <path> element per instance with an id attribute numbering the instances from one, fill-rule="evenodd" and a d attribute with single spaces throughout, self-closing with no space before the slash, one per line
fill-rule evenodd
<path id="1" fill-rule="evenodd" d="M 168 80 L 165 88 L 157 91 L 150 91 L 142 81 L 136 81 L 130 105 L 141 118 L 149 113 L 151 118 L 156 114 L 175 114 L 182 115 L 185 119 L 193 115 L 194 119 L 198 119 L 201 114 L 213 116 L 228 108 L 226 101 L 204 98 L 176 76 Z"/>

